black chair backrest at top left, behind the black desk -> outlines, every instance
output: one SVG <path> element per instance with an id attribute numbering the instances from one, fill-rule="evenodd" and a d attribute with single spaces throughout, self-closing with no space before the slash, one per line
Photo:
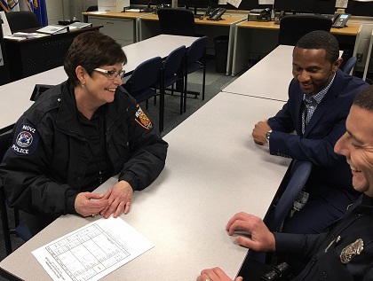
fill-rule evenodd
<path id="1" fill-rule="evenodd" d="M 6 20 L 8 20 L 12 33 L 23 29 L 40 27 L 40 22 L 34 12 L 7 12 Z"/>

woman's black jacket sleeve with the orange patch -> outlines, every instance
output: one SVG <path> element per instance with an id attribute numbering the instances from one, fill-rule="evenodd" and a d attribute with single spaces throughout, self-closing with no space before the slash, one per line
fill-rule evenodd
<path id="1" fill-rule="evenodd" d="M 131 184 L 134 191 L 143 190 L 162 172 L 168 144 L 153 123 L 137 105 L 129 120 L 130 159 L 124 163 L 119 180 Z"/>

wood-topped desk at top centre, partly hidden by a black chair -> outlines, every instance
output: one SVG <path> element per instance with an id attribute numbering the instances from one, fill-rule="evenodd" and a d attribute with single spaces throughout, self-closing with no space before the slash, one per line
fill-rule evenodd
<path id="1" fill-rule="evenodd" d="M 222 20 L 207 20 L 207 17 L 204 17 L 203 20 L 198 18 L 194 19 L 196 35 L 207 35 L 209 38 L 208 49 L 214 48 L 213 39 L 215 37 L 218 37 L 219 35 L 229 36 L 228 53 L 226 58 L 226 75 L 231 74 L 232 69 L 235 26 L 242 20 L 246 19 L 247 17 L 237 15 L 229 16 L 226 14 L 222 17 Z M 139 40 L 159 34 L 161 34 L 161 28 L 158 24 L 157 15 L 147 15 L 139 19 Z"/>

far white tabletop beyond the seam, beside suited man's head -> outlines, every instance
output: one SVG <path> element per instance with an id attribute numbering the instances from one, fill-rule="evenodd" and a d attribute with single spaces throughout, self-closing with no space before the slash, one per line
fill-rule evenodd
<path id="1" fill-rule="evenodd" d="M 293 46 L 280 45 L 223 91 L 287 101 L 292 73 Z M 278 109 L 280 109 L 279 107 Z"/>

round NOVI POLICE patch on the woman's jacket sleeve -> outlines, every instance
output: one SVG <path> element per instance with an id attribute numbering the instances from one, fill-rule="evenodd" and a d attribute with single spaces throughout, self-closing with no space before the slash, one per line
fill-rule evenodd
<path id="1" fill-rule="evenodd" d="M 24 123 L 20 125 L 20 131 L 12 144 L 12 151 L 18 155 L 28 155 L 36 151 L 39 133 L 33 125 Z"/>

